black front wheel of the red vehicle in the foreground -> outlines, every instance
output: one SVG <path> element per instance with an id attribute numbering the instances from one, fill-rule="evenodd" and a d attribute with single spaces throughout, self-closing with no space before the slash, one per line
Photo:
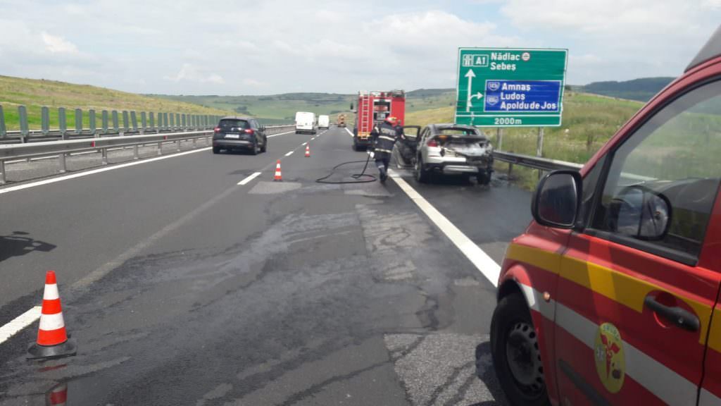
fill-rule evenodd
<path id="1" fill-rule="evenodd" d="M 523 297 L 514 294 L 501 299 L 491 320 L 491 355 L 511 405 L 550 405 L 538 345 Z"/>

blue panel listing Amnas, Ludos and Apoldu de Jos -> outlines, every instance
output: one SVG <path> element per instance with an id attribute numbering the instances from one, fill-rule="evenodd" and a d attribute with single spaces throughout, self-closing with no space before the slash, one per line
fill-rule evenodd
<path id="1" fill-rule="evenodd" d="M 486 80 L 483 111 L 509 113 L 558 113 L 560 80 Z"/>

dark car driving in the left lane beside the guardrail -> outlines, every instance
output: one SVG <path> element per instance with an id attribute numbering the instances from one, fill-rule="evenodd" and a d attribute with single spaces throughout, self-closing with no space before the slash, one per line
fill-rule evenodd
<path id="1" fill-rule="evenodd" d="M 221 150 L 244 150 L 252 155 L 267 151 L 265 126 L 258 124 L 255 118 L 224 117 L 214 131 L 213 154 L 219 154 Z"/>

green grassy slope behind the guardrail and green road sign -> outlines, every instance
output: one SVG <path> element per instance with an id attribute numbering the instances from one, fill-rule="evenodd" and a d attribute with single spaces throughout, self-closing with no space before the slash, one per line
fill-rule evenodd
<path id="1" fill-rule="evenodd" d="M 614 99 L 588 93 L 565 92 L 562 126 L 544 129 L 544 157 L 585 163 L 621 126 L 628 121 L 643 103 L 634 100 Z M 406 115 L 406 124 L 452 123 L 454 108 L 443 107 L 415 111 Z M 487 129 L 487 135 L 497 147 L 496 130 Z M 538 129 L 534 127 L 503 130 L 501 149 L 526 155 L 536 155 Z M 508 165 L 497 163 L 496 170 L 507 170 Z M 536 186 L 536 170 L 513 168 L 519 183 L 527 189 Z"/>

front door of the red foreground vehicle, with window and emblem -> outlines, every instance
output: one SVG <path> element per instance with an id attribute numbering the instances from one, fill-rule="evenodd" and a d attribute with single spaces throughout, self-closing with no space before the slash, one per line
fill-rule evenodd
<path id="1" fill-rule="evenodd" d="M 584 193 L 585 228 L 561 256 L 562 404 L 696 405 L 720 286 L 718 209 L 709 224 L 721 177 L 721 82 L 679 93 L 644 119 L 599 163 Z M 704 243 L 707 230 L 715 245 Z M 715 404 L 720 337 L 709 342 L 715 365 L 707 363 Z"/>

